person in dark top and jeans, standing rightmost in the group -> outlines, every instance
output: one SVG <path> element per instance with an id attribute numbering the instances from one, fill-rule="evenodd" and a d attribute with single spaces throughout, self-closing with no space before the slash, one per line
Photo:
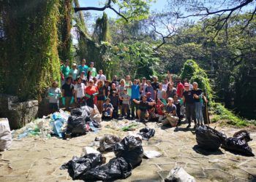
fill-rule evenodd
<path id="1" fill-rule="evenodd" d="M 206 100 L 206 98 L 203 96 L 203 90 L 200 90 L 198 88 L 197 82 L 193 82 L 193 90 L 192 95 L 195 100 L 195 117 L 197 119 L 197 125 L 203 125 L 203 100 Z M 207 103 L 207 100 L 206 100 Z"/>

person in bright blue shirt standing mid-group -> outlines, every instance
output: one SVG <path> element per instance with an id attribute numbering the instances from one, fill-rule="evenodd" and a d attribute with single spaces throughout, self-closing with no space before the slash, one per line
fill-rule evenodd
<path id="1" fill-rule="evenodd" d="M 138 110 L 138 106 L 137 104 L 133 101 L 135 100 L 140 100 L 140 81 L 138 81 L 137 79 L 135 79 L 133 81 L 133 84 L 130 85 L 131 90 L 132 90 L 132 96 L 131 96 L 131 110 L 132 110 L 132 118 L 135 117 L 135 108 L 136 108 L 136 115 L 137 115 L 137 110 Z"/>

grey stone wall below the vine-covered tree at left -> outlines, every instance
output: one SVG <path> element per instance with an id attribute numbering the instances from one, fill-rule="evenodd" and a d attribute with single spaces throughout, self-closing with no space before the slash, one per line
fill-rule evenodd
<path id="1" fill-rule="evenodd" d="M 9 120 L 11 130 L 23 127 L 38 114 L 38 100 L 18 102 L 18 97 L 0 94 L 0 117 Z"/>

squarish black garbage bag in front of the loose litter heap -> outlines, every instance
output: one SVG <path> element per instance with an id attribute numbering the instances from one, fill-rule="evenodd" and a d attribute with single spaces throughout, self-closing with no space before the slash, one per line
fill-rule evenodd
<path id="1" fill-rule="evenodd" d="M 83 116 L 69 116 L 67 119 L 67 133 L 72 135 L 86 134 L 86 120 Z"/>

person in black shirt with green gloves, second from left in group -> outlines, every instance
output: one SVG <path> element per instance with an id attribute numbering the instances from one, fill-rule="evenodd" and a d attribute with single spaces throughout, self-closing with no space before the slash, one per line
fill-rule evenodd
<path id="1" fill-rule="evenodd" d="M 72 84 L 72 77 L 67 77 L 66 83 L 62 85 L 62 105 L 66 108 L 69 108 L 72 106 L 72 103 L 74 103 L 75 98 L 73 96 L 74 94 L 74 85 Z"/>

